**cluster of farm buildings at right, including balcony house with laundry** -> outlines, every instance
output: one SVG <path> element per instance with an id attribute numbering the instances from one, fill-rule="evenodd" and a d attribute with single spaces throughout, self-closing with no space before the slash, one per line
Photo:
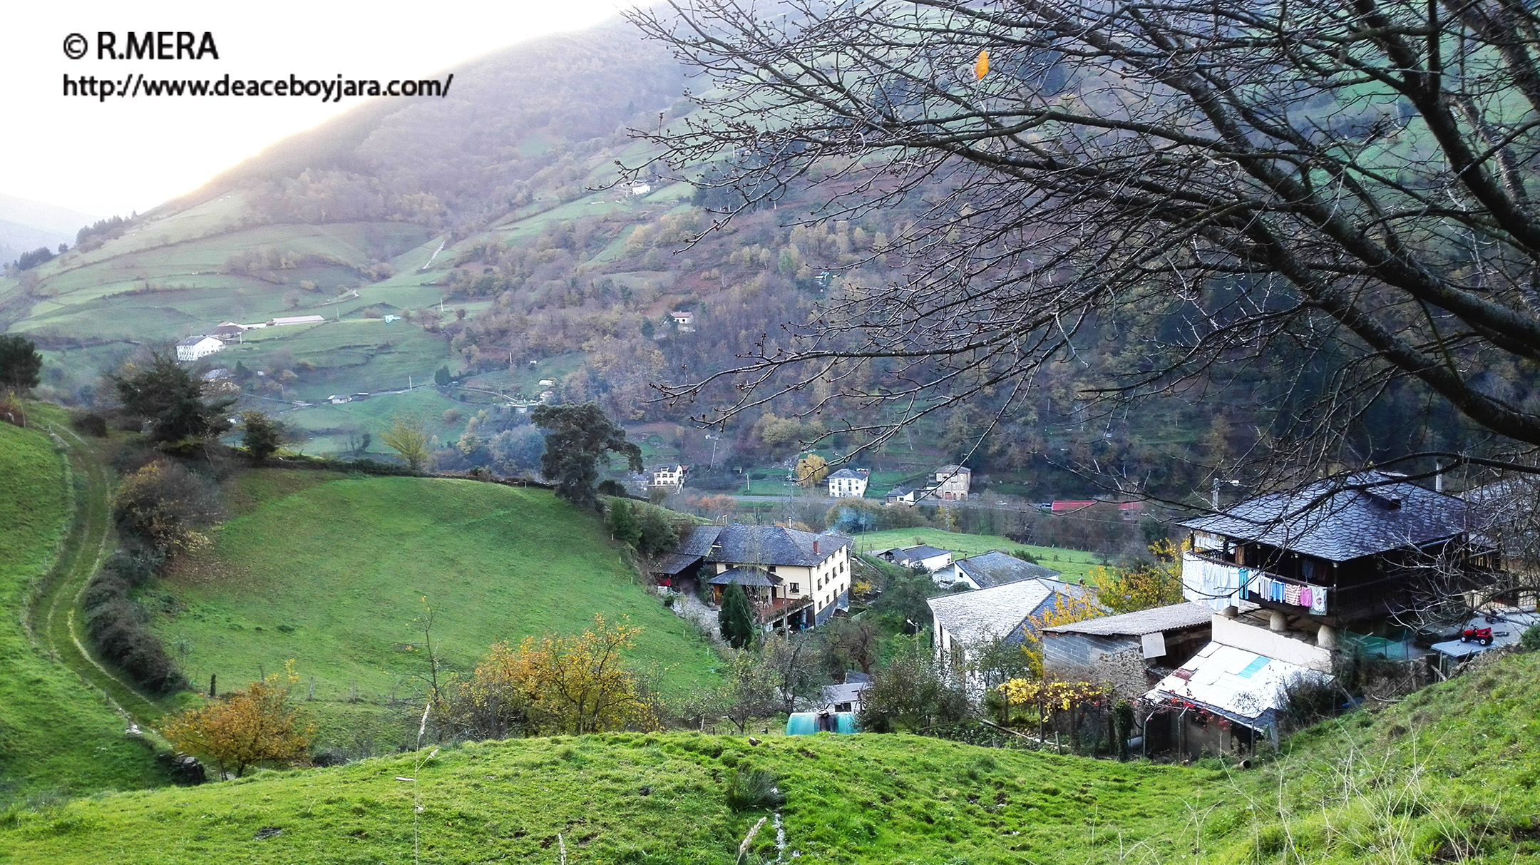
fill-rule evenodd
<path id="1" fill-rule="evenodd" d="M 1147 753 L 1247 753 L 1277 743 L 1291 688 L 1331 685 L 1348 654 L 1449 673 L 1537 622 L 1532 608 L 1481 594 L 1498 560 L 1474 505 L 1480 494 L 1361 473 L 1250 499 L 1178 523 L 1186 600 L 1063 625 L 1041 623 L 1069 603 L 1100 605 L 1043 565 L 999 551 L 953 560 L 929 545 L 878 556 L 969 589 L 929 606 L 936 660 L 975 697 L 979 651 L 1036 640 L 1046 677 L 1100 683 L 1140 708 Z M 1478 610 L 1469 620 L 1443 631 L 1404 625 L 1460 593 Z"/>

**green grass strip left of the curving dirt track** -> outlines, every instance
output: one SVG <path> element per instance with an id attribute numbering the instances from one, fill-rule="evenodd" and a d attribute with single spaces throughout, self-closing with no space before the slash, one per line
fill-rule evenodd
<path id="1" fill-rule="evenodd" d="M 0 800 L 131 790 L 160 780 L 128 720 L 23 625 L 72 519 L 66 462 L 48 436 L 0 423 Z"/>

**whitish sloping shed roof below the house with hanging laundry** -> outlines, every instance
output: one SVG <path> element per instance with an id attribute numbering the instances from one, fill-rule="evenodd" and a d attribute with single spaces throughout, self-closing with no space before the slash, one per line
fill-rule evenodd
<path id="1" fill-rule="evenodd" d="M 1281 705 L 1283 685 L 1295 679 L 1331 676 L 1223 643 L 1209 643 L 1187 663 L 1160 680 L 1146 700 L 1186 700 L 1254 725 Z"/>

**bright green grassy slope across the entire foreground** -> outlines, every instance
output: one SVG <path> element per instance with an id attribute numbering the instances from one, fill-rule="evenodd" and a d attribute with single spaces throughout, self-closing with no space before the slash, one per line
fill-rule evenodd
<path id="1" fill-rule="evenodd" d="M 1260 768 L 1157 766 L 912 736 L 488 742 L 0 816 L 12 862 L 728 863 L 775 773 L 781 862 L 1509 863 L 1540 857 L 1540 656 L 1289 742 Z M 420 808 L 420 811 L 417 810 Z M 282 831 L 277 831 L 282 830 Z M 561 836 L 561 839 L 557 839 Z M 767 823 L 752 856 L 776 859 Z"/>

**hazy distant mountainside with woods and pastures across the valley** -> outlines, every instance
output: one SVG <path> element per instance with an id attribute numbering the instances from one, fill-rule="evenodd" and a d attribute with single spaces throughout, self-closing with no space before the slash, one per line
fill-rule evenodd
<path id="1" fill-rule="evenodd" d="M 594 400 L 631 425 L 684 423 L 732 403 L 736 391 L 724 382 L 695 403 L 667 403 L 651 385 L 788 348 L 784 323 L 899 280 L 916 225 L 970 212 L 966 194 L 938 185 L 899 208 L 824 219 L 830 195 L 884 182 L 855 171 L 788 179 L 765 206 L 707 232 L 741 199 L 654 177 L 658 151 L 627 129 L 687 122 L 687 82 L 624 23 L 519 45 L 456 72 L 448 99 L 367 103 L 191 195 L 97 223 L 72 251 L 0 280 L 0 328 L 46 349 L 43 396 L 95 399 L 103 368 L 223 320 L 322 316 L 319 325 L 248 331 L 205 363 L 233 369 L 246 402 L 271 411 L 419 386 L 442 368 L 467 389 L 305 408 L 290 420 L 313 453 L 339 453 L 377 436 L 393 412 L 414 411 L 433 420 L 442 446 L 459 445 L 457 456 L 445 451 L 448 463 L 528 468 L 507 437 L 500 451 L 488 448 L 499 434 L 524 436 L 522 416 L 462 409 L 459 400 L 551 391 Z M 622 177 L 618 163 L 634 172 Z M 822 445 L 838 456 L 904 412 L 933 409 L 918 436 L 862 460 L 918 468 L 967 459 L 1038 497 L 1096 491 L 1063 466 L 1096 473 L 1107 488 L 1203 494 L 1210 471 L 1266 449 L 1294 422 L 1295 405 L 1327 386 L 1332 359 L 1284 348 L 1200 376 L 1201 408 L 1177 394 L 1103 411 L 1087 388 L 1163 351 L 1160 334 L 1123 326 L 1150 314 L 1150 303 L 1073 323 L 1033 396 L 998 423 L 1007 388 L 956 405 L 841 402 L 873 386 L 901 394 L 915 372 L 890 362 L 847 365 L 736 419 L 707 445 L 711 462 L 768 465 L 821 432 L 850 429 Z M 681 326 L 671 311 L 693 322 Z M 1167 322 L 1172 337 L 1187 326 L 1175 314 Z M 1372 459 L 1455 432 L 1401 411 L 1414 399 L 1388 391 L 1352 446 Z M 468 423 L 480 408 L 490 416 Z M 682 443 L 667 454 L 688 459 L 690 442 L 670 436 Z"/>

